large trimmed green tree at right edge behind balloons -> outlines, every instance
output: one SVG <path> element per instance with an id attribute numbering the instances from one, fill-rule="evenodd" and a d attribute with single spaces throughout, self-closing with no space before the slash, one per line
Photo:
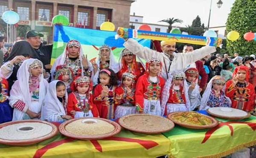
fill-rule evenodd
<path id="1" fill-rule="evenodd" d="M 256 41 L 246 41 L 243 35 L 256 31 L 256 1 L 236 0 L 227 18 L 227 32 L 238 31 L 240 38 L 236 41 L 227 40 L 227 51 L 230 54 L 239 53 L 242 56 L 255 54 Z"/>

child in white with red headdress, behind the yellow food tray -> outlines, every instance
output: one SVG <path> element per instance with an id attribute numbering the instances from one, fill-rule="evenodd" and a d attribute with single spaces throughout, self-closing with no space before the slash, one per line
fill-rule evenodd
<path id="1" fill-rule="evenodd" d="M 185 71 L 186 82 L 189 86 L 189 100 L 191 104 L 190 110 L 195 110 L 201 104 L 201 96 L 198 86 L 198 69 L 197 68 L 187 68 Z"/>

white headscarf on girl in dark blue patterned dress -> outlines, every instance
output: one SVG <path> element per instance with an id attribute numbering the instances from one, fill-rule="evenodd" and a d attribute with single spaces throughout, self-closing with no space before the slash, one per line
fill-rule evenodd
<path id="1" fill-rule="evenodd" d="M 203 94 L 203 96 L 202 96 L 202 99 L 201 99 L 201 105 L 200 105 L 200 107 L 199 107 L 199 110 L 207 110 L 207 109 L 209 109 L 210 107 L 209 106 L 207 106 L 207 102 L 208 102 L 208 100 L 209 100 L 209 96 L 210 96 L 210 93 L 211 93 L 211 91 L 212 91 L 212 81 L 214 80 L 215 78 L 214 77 L 212 77 L 212 79 L 209 81 L 209 83 L 208 83 L 208 85 L 207 85 L 207 87 L 206 87 L 206 89 L 205 89 L 205 91 L 204 91 L 204 94 Z M 224 95 L 225 95 L 225 85 L 223 86 L 223 88 L 222 88 L 222 91 L 223 91 L 223 93 L 224 93 Z M 225 98 L 230 102 L 230 104 L 231 104 L 231 100 L 228 98 L 228 97 L 226 97 L 225 96 Z"/>

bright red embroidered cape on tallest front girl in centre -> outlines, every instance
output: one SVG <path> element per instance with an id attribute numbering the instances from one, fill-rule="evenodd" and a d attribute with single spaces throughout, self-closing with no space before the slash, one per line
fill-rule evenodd
<path id="1" fill-rule="evenodd" d="M 159 79 L 159 82 L 156 84 L 152 84 L 148 81 L 147 75 L 144 74 L 139 77 L 136 84 L 135 103 L 136 106 L 139 107 L 140 111 L 143 111 L 144 99 L 150 100 L 153 97 L 154 100 L 160 99 L 165 80 L 160 76 L 157 76 L 157 78 Z"/>

